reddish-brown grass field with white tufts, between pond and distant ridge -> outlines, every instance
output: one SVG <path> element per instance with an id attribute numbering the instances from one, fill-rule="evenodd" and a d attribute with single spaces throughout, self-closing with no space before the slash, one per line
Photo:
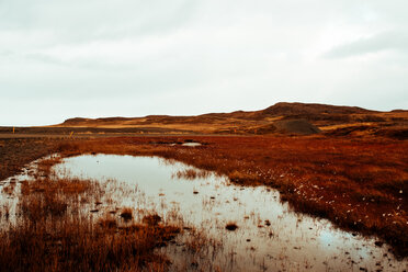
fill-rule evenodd
<path id="1" fill-rule="evenodd" d="M 315 137 L 192 137 L 189 148 L 158 143 L 182 137 L 128 137 L 61 146 L 87 152 L 160 156 L 226 174 L 233 182 L 280 190 L 296 209 L 345 229 L 375 234 L 408 254 L 408 141 Z"/>

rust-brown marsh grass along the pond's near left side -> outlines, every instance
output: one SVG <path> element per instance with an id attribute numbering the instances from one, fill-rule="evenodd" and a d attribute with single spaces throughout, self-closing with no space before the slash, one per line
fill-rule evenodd
<path id="1" fill-rule="evenodd" d="M 0 229 L 0 271 L 166 271 L 170 261 L 155 249 L 179 227 L 95 219 L 87 211 L 105 193 L 103 184 L 57 178 L 52 167 L 59 161 L 41 161 L 36 178 L 21 183 L 16 223 Z"/>

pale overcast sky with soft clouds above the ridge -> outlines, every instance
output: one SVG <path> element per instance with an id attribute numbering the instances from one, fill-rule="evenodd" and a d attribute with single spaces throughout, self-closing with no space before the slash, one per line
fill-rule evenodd
<path id="1" fill-rule="evenodd" d="M 0 125 L 408 109 L 407 0 L 0 0 Z"/>

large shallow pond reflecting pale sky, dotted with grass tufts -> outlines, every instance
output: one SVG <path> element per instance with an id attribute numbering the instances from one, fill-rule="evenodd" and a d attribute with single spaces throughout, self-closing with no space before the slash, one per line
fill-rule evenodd
<path id="1" fill-rule="evenodd" d="M 156 211 L 167 223 L 181 222 L 185 230 L 174 243 L 160 249 L 173 261 L 173 270 L 219 267 L 222 271 L 404 271 L 408 265 L 407 260 L 395 260 L 386 246 L 376 247 L 374 238 L 294 213 L 280 202 L 274 190 L 234 185 L 214 173 L 186 179 L 178 173 L 197 169 L 180 162 L 97 155 L 67 158 L 55 169 L 72 177 L 123 182 L 132 190 L 116 192 L 116 205 Z M 110 209 L 103 203 L 99 213 Z M 226 229 L 228 223 L 238 228 Z M 185 250 L 189 236 L 211 245 L 195 253 L 200 258 Z M 186 258 L 191 258 L 191 265 L 178 267 Z"/>

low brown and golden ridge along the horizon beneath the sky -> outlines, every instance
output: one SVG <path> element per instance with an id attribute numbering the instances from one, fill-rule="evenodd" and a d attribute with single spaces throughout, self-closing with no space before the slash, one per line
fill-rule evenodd
<path id="1" fill-rule="evenodd" d="M 408 129 L 408 111 L 379 112 L 359 106 L 280 102 L 260 111 L 206 113 L 195 116 L 76 117 L 52 127 L 132 129 L 140 134 L 313 135 L 324 133 L 328 135 L 330 133 L 331 135 L 390 135 L 405 138 Z"/>

